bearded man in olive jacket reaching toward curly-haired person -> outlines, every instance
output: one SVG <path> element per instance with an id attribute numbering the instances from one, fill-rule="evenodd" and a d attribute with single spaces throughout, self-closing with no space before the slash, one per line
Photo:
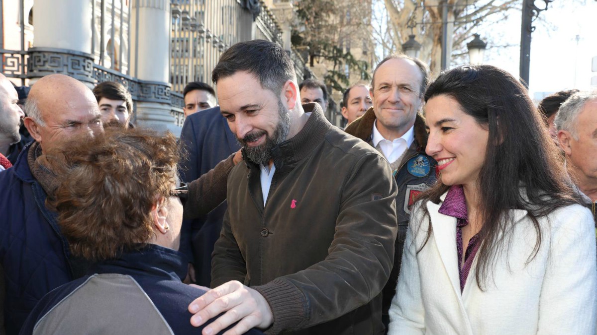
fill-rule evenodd
<path id="1" fill-rule="evenodd" d="M 211 291 L 189 305 L 217 333 L 380 334 L 393 265 L 396 183 L 370 145 L 300 105 L 294 66 L 267 41 L 233 45 L 212 79 L 244 145 L 228 179 Z"/>

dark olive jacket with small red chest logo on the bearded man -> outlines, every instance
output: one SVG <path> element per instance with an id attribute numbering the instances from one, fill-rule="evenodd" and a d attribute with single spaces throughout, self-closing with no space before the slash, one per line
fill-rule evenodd
<path id="1" fill-rule="evenodd" d="M 273 149 L 265 206 L 259 166 L 230 172 L 212 287 L 238 280 L 274 317 L 267 334 L 382 334 L 380 291 L 396 238 L 396 184 L 370 145 L 331 125 L 318 104 Z"/>

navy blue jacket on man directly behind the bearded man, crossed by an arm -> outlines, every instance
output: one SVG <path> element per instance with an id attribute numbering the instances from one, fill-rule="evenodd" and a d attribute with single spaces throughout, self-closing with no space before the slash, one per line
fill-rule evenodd
<path id="1" fill-rule="evenodd" d="M 187 159 L 179 165 L 184 182 L 199 178 L 241 148 L 221 116 L 220 107 L 187 116 L 180 141 L 188 153 Z M 220 237 L 226 207 L 224 201 L 208 215 L 183 221 L 180 251 L 192 257 L 197 283 L 202 286 L 211 283 L 211 253 Z"/>

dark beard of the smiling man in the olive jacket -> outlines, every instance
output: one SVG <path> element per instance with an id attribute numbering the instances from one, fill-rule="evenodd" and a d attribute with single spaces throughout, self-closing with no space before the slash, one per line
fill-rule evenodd
<path id="1" fill-rule="evenodd" d="M 236 140 L 244 147 L 247 159 L 258 165 L 267 165 L 270 160 L 273 159 L 272 150 L 276 145 L 284 142 L 288 137 L 290 131 L 290 114 L 288 110 L 282 104 L 282 101 L 278 100 L 278 125 L 273 131 L 272 136 L 267 135 L 266 131 L 253 131 L 245 135 L 244 138 L 236 138 Z M 257 138 L 260 138 L 265 134 L 265 142 L 257 147 L 249 147 L 247 142 L 252 142 Z"/>

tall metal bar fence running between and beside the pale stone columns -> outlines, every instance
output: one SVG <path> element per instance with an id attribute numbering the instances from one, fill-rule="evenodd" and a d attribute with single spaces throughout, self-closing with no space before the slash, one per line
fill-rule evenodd
<path id="1" fill-rule="evenodd" d="M 5 36 L 5 2 L 17 5 L 17 30 L 19 36 L 10 33 L 10 41 L 0 38 L 0 72 L 7 77 L 18 78 L 21 85 L 35 76 L 30 71 L 29 48 L 33 45 L 33 0 L 0 0 L 0 37 Z M 114 80 L 122 83 L 134 101 L 146 98 L 142 94 L 141 80 L 136 70 L 130 69 L 131 57 L 143 57 L 134 52 L 131 45 L 131 17 L 139 15 L 130 0 L 81 0 L 90 1 L 91 59 L 93 77 L 97 83 Z M 282 32 L 272 12 L 261 2 L 261 12 L 253 18 L 241 0 L 171 0 L 170 43 L 170 97 L 171 114 L 177 125 L 184 121 L 181 92 L 192 81 L 210 82 L 211 70 L 216 66 L 222 52 L 229 46 L 252 38 L 266 39 L 282 45 Z M 42 14 L 38 14 L 42 15 Z M 59 23 L 57 23 L 59 24 Z M 137 29 L 135 29 L 137 30 Z M 137 30 L 138 31 L 138 30 Z M 5 44 L 10 44 L 6 47 Z M 53 49 L 69 54 L 69 50 Z M 70 52 L 72 53 L 72 52 Z M 147 57 L 145 55 L 145 57 Z M 291 49 L 298 80 L 313 76 L 303 58 Z M 136 58 L 135 58 L 136 59 Z M 56 67 L 56 72 L 60 72 Z M 144 101 L 144 100 L 143 100 Z M 164 102 L 163 100 L 160 102 Z"/>

